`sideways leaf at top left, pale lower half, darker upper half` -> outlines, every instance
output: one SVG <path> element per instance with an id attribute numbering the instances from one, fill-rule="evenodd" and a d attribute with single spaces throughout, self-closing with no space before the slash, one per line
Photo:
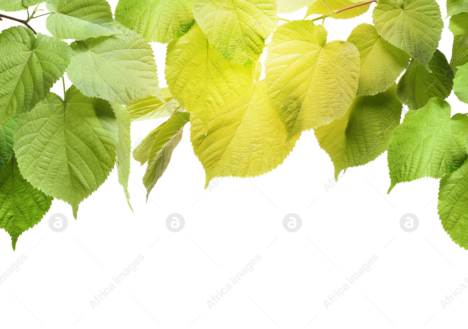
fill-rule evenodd
<path id="1" fill-rule="evenodd" d="M 47 16 L 46 27 L 60 39 L 122 34 L 114 25 L 106 0 L 46 0 L 46 7 L 52 13 Z"/>

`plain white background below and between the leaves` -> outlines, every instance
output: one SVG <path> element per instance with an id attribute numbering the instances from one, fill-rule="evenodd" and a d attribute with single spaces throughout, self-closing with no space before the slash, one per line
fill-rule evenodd
<path id="1" fill-rule="evenodd" d="M 111 1 L 112 9 L 116 3 Z M 439 3 L 445 17 L 445 3 Z M 372 23 L 372 8 L 346 21 L 328 18 L 328 40 L 346 40 L 359 23 Z M 281 16 L 301 19 L 305 11 Z M 31 25 L 48 33 L 44 22 L 41 17 Z M 13 23 L 4 20 L 0 27 Z M 448 20 L 444 23 L 439 49 L 450 58 L 453 36 Z M 165 87 L 165 45 L 153 47 Z M 63 95 L 60 81 L 53 91 Z M 468 112 L 453 94 L 448 101 L 453 114 Z M 132 124 L 132 148 L 161 122 Z M 2 328 L 466 326 L 468 291 L 445 309 L 441 305 L 452 290 L 468 286 L 463 281 L 468 251 L 440 224 L 438 180 L 398 184 L 387 195 L 386 154 L 351 168 L 326 190 L 333 165 L 308 131 L 271 173 L 219 179 L 204 190 L 204 170 L 192 152 L 187 125 L 146 204 L 145 168 L 132 160 L 134 214 L 114 169 L 80 204 L 78 220 L 69 205 L 54 200 L 44 219 L 20 236 L 15 252 L 9 235 L 1 234 L 0 274 L 21 255 L 28 257 L 0 285 Z M 55 213 L 68 219 L 64 232 L 49 227 Z M 178 233 L 166 227 L 171 213 L 185 219 Z M 302 219 L 295 233 L 283 227 L 288 213 Z M 400 227 L 405 213 L 419 219 L 412 233 Z M 93 309 L 90 300 L 140 254 L 145 258 L 137 270 Z M 207 300 L 256 254 L 262 259 L 254 270 L 210 309 Z M 327 309 L 324 300 L 374 254 L 379 258 L 371 270 Z"/>

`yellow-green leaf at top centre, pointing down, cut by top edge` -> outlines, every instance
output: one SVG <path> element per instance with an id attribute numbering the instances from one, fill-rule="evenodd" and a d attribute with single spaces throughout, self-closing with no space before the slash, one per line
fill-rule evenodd
<path id="1" fill-rule="evenodd" d="M 278 26 L 275 0 L 195 0 L 193 16 L 221 56 L 245 66 Z"/>

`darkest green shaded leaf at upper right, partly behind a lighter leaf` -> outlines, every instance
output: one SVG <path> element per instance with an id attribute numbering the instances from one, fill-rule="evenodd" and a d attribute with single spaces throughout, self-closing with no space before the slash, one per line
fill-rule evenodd
<path id="1" fill-rule="evenodd" d="M 398 81 L 396 94 L 409 110 L 417 110 L 430 98 L 446 99 L 453 87 L 453 71 L 445 55 L 436 50 L 429 62 L 428 72 L 417 60 L 411 59 L 408 69 Z"/>

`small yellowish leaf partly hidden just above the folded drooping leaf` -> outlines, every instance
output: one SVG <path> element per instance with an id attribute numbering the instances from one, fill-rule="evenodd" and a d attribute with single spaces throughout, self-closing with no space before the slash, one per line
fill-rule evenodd
<path id="1" fill-rule="evenodd" d="M 164 102 L 158 97 L 150 95 L 128 104 L 126 108 L 130 114 L 130 120 L 133 122 L 169 117 L 180 107 L 174 97 L 169 94 L 168 88 L 161 88 L 161 96 Z"/>

